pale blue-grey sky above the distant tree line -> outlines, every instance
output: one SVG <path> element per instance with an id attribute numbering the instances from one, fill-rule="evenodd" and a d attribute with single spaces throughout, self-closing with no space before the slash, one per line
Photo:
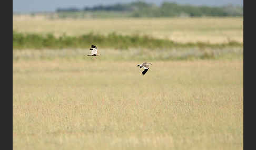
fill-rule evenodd
<path id="1" fill-rule="evenodd" d="M 55 12 L 57 8 L 84 8 L 95 5 L 111 5 L 116 3 L 130 3 L 135 0 L 13 0 L 13 12 Z M 243 6 L 243 0 L 144 0 L 147 3 L 161 5 L 163 2 L 176 2 L 178 4 L 222 6 L 227 4 Z"/>

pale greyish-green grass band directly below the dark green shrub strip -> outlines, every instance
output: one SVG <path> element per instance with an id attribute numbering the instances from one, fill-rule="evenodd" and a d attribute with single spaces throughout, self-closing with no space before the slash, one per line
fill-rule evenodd
<path id="1" fill-rule="evenodd" d="M 13 50 L 13 61 L 19 60 L 83 60 L 83 61 L 170 61 L 170 60 L 233 60 L 243 59 L 243 48 L 172 48 L 172 49 L 99 49 L 100 57 L 88 57 L 86 49 L 23 49 Z"/>

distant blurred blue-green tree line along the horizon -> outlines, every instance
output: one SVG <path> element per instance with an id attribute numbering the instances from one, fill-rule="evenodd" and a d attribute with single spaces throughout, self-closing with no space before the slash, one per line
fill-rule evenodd
<path id="1" fill-rule="evenodd" d="M 161 6 L 141 1 L 129 4 L 97 5 L 93 7 L 58 8 L 57 13 L 63 12 L 130 12 L 131 17 L 175 17 L 175 16 L 243 16 L 242 6 L 193 6 L 164 2 Z"/>

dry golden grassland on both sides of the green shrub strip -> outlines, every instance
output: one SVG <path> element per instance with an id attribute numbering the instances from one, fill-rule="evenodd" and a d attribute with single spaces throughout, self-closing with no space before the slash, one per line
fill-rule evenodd
<path id="1" fill-rule="evenodd" d="M 146 34 L 243 42 L 242 17 L 47 19 L 55 36 Z M 13 49 L 13 149 L 243 149 L 243 48 Z M 85 57 L 86 56 L 86 57 Z M 152 67 L 142 76 L 136 67 Z"/>

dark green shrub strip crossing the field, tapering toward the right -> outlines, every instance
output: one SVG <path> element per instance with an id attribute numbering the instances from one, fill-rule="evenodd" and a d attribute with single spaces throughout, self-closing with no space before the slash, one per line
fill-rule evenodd
<path id="1" fill-rule="evenodd" d="M 35 34 L 35 33 L 18 33 L 13 30 L 13 49 L 61 49 L 61 48 L 88 48 L 92 44 L 101 48 L 174 48 L 174 47 L 242 47 L 243 43 L 229 41 L 222 44 L 210 44 L 209 42 L 188 42 L 179 43 L 168 39 L 156 39 L 150 36 L 140 35 L 99 35 L 88 33 L 81 36 L 60 36 L 55 37 L 53 34 Z"/>

